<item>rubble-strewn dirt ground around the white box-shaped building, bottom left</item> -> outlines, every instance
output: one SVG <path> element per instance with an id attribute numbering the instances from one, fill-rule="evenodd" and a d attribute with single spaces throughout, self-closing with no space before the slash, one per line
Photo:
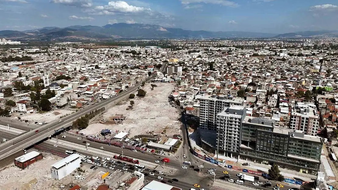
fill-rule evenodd
<path id="1" fill-rule="evenodd" d="M 16 166 L 10 166 L 7 169 L 0 171 L 0 189 L 1 190 L 43 190 L 43 189 L 55 189 L 61 185 L 67 185 L 72 182 L 74 176 L 72 174 L 67 175 L 62 180 L 56 180 L 51 177 L 50 165 L 61 160 L 61 157 L 43 153 L 44 158 L 39 160 L 27 169 L 20 169 Z M 87 166 L 81 167 L 82 175 L 88 174 L 89 168 Z M 75 176 L 78 171 L 73 172 Z M 78 182 L 78 181 L 74 181 Z"/>

